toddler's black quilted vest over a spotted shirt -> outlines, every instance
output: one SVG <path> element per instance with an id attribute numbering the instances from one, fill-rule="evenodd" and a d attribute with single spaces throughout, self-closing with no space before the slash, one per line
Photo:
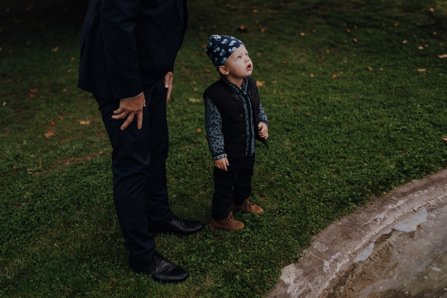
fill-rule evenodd
<path id="1" fill-rule="evenodd" d="M 259 124 L 259 93 L 257 91 L 257 85 L 252 77 L 247 77 L 248 86 L 247 93 L 250 97 L 251 108 L 253 111 L 253 118 L 255 122 L 255 130 Z M 222 115 L 222 133 L 224 142 L 224 151 L 229 158 L 232 159 L 245 159 L 245 138 L 249 136 L 245 135 L 245 110 L 244 99 L 240 98 L 240 95 L 234 92 L 230 86 L 228 86 L 223 79 L 211 84 L 203 93 L 203 99 L 207 96 L 211 98 L 214 105 L 219 109 Z M 257 134 L 257 131 L 253 131 L 255 138 L 264 143 L 268 148 L 267 141 L 262 139 Z"/>

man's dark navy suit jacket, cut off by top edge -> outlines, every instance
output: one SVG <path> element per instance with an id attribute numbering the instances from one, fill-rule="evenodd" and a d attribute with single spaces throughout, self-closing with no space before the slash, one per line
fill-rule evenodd
<path id="1" fill-rule="evenodd" d="M 90 0 L 78 87 L 108 101 L 134 97 L 173 71 L 186 0 Z"/>

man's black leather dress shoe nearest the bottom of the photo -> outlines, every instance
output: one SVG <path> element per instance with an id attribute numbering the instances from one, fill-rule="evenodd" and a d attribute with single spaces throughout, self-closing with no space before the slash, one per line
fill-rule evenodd
<path id="1" fill-rule="evenodd" d="M 190 273 L 166 260 L 159 252 L 155 252 L 146 260 L 134 260 L 129 256 L 129 266 L 138 273 L 151 274 L 154 281 L 162 284 L 178 284 L 190 277 Z"/>

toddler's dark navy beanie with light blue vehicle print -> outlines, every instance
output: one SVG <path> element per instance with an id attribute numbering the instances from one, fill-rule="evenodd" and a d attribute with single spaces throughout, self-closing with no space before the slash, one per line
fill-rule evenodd
<path id="1" fill-rule="evenodd" d="M 214 63 L 216 70 L 223 65 L 238 47 L 245 46 L 239 39 L 228 35 L 211 35 L 205 52 Z"/>

